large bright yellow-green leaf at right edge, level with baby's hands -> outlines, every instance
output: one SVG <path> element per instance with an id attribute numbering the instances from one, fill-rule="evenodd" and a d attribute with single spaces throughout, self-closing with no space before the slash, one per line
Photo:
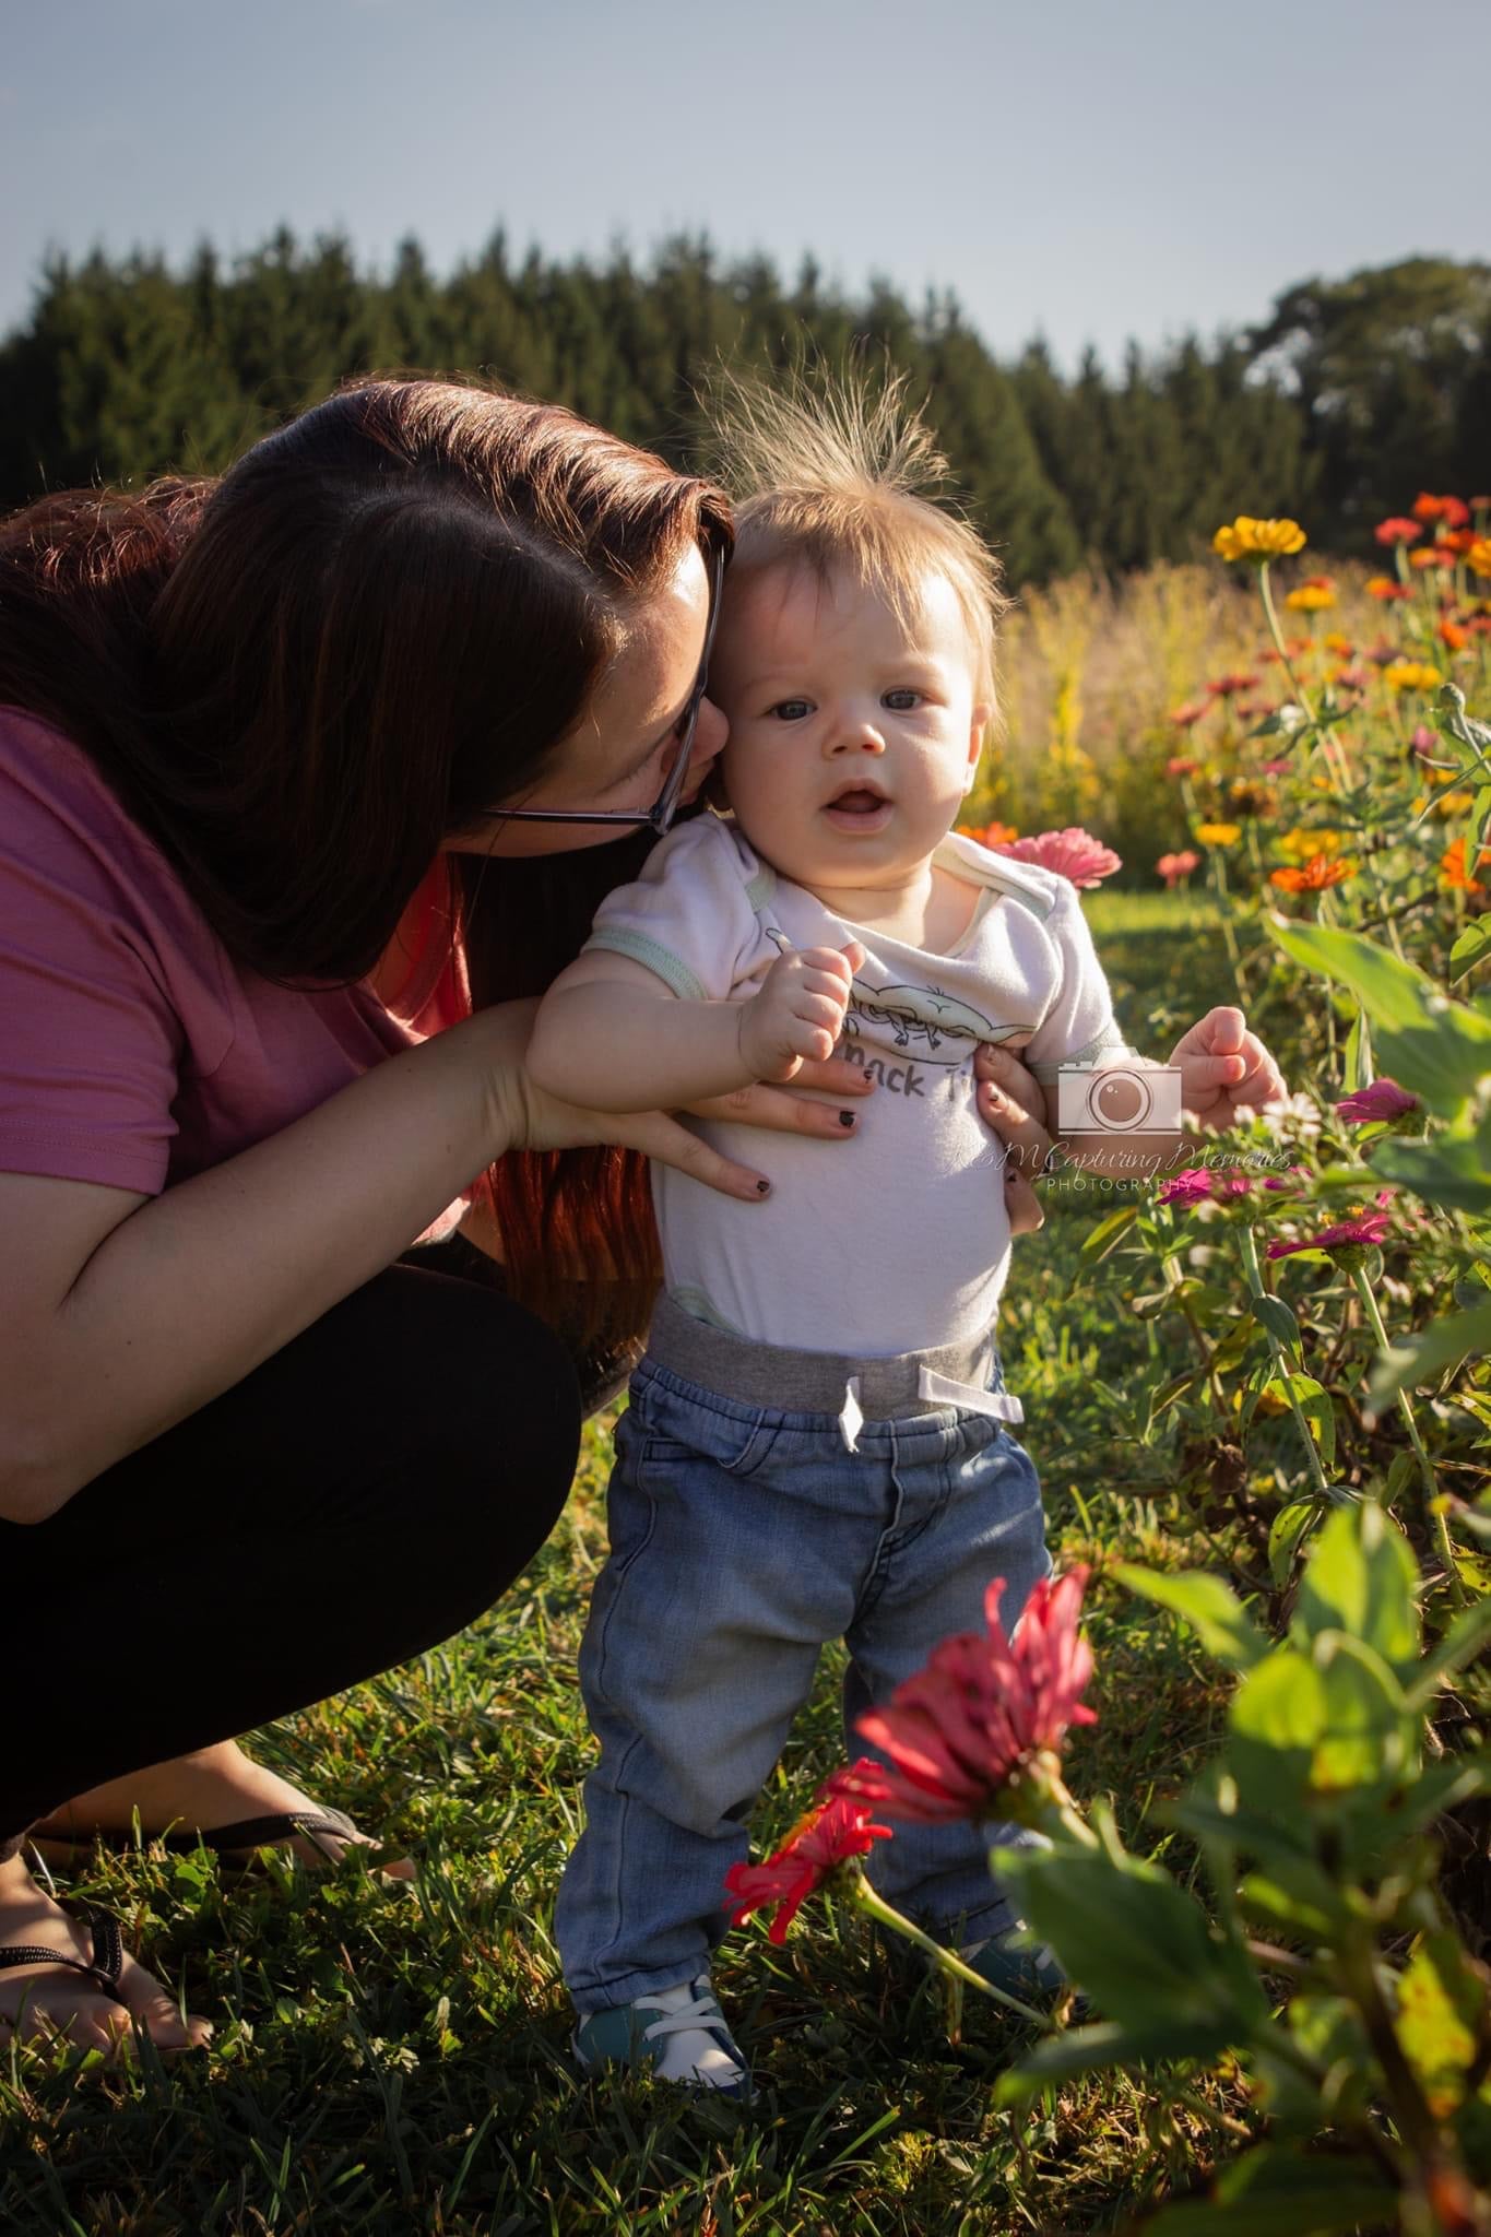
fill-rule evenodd
<path id="1" fill-rule="evenodd" d="M 1359 933 L 1292 924 L 1274 913 L 1265 922 L 1297 964 L 1350 987 L 1377 1029 L 1373 1040 L 1384 1072 L 1442 1118 L 1457 1118 L 1491 1074 L 1491 1018 L 1451 1002 L 1431 978 Z"/>

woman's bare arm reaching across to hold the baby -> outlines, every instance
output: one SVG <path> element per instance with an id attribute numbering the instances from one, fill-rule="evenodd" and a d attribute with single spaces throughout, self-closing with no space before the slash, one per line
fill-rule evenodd
<path id="1" fill-rule="evenodd" d="M 0 1517 L 45 1521 L 230 1389 L 512 1148 L 624 1141 L 760 1201 L 758 1174 L 659 1112 L 536 1092 L 532 1016 L 481 1011 L 161 1197 L 0 1174 Z"/>

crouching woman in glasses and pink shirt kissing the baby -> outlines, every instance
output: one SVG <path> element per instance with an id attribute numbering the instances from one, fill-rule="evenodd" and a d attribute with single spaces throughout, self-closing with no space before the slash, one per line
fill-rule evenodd
<path id="1" fill-rule="evenodd" d="M 644 1320 L 642 1159 L 769 1186 L 523 1072 L 530 998 L 720 752 L 729 546 L 706 483 L 409 380 L 219 485 L 0 532 L 0 1573 L 34 1673 L 0 1752 L 0 2040 L 206 2038 L 22 1839 L 134 1807 L 221 1846 L 353 1837 L 226 1734 L 447 1637 L 543 1544 L 574 1353 Z M 1039 1092 L 993 1076 L 1039 1154 Z M 498 1235 L 505 1280 L 460 1277 Z"/>

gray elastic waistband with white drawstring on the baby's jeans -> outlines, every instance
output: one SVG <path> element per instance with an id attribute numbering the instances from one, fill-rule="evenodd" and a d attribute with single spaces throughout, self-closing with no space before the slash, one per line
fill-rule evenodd
<path id="1" fill-rule="evenodd" d="M 845 1387 L 856 1385 L 858 1412 L 865 1420 L 894 1420 L 903 1414 L 952 1405 L 925 1396 L 928 1378 L 968 1385 L 979 1391 L 995 1365 L 995 1331 L 986 1329 L 966 1344 L 939 1344 L 932 1351 L 901 1351 L 890 1360 L 861 1360 L 849 1351 L 789 1351 L 782 1344 L 753 1344 L 706 1320 L 695 1320 L 662 1295 L 653 1306 L 648 1358 L 671 1367 L 688 1382 L 742 1398 L 747 1405 L 769 1405 L 782 1414 L 838 1414 Z M 990 1407 L 993 1412 L 993 1407 Z M 999 1414 L 1006 1409 L 999 1407 Z M 1008 1403 L 1019 1420 L 1019 1405 Z"/>

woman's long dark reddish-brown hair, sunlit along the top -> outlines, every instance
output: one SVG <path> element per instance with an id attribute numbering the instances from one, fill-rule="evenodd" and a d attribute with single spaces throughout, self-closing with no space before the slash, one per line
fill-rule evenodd
<path id="1" fill-rule="evenodd" d="M 241 964 L 351 984 L 443 841 L 536 778 L 691 544 L 729 548 L 722 492 L 559 405 L 358 383 L 221 481 L 72 490 L 0 526 L 0 700 L 94 758 Z M 449 857 L 474 1000 L 548 987 L 642 852 Z M 610 1333 L 642 1327 L 642 1159 L 507 1157 L 490 1188 L 519 1295 L 572 1315 L 586 1282 Z"/>

